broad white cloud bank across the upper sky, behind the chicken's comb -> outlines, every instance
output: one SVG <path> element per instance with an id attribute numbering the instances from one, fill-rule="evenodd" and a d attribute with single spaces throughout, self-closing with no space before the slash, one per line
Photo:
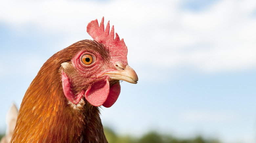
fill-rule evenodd
<path id="1" fill-rule="evenodd" d="M 256 67 L 254 1 L 217 1 L 200 12 L 184 10 L 180 4 L 178 0 L 10 0 L 0 6 L 0 20 L 18 28 L 32 24 L 81 40 L 86 24 L 105 16 L 128 45 L 129 63 L 162 69 L 183 65 L 201 72 Z"/>

